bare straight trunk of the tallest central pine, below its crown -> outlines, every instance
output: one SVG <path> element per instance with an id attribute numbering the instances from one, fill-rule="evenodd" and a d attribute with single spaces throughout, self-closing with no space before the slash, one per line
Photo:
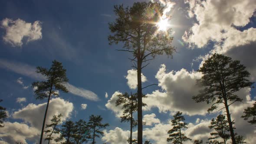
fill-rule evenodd
<path id="1" fill-rule="evenodd" d="M 140 56 L 140 55 L 139 55 Z M 138 78 L 138 144 L 142 144 L 142 132 L 143 132 L 143 125 L 142 125 L 142 84 L 141 84 L 141 65 L 142 60 L 138 58 L 137 62 L 137 78 Z"/>

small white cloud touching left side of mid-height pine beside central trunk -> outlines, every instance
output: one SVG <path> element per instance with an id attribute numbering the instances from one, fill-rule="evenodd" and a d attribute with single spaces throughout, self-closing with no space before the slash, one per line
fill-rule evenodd
<path id="1" fill-rule="evenodd" d="M 115 113 L 116 117 L 120 117 L 123 115 L 122 105 L 115 106 L 115 101 L 117 100 L 118 95 L 120 94 L 121 93 L 118 91 L 115 92 L 105 105 L 106 108 L 112 110 Z"/>

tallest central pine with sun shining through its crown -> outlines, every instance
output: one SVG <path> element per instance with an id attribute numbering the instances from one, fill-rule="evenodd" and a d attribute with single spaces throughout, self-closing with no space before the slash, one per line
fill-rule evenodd
<path id="1" fill-rule="evenodd" d="M 141 69 L 148 65 L 143 66 L 143 63 L 164 53 L 172 56 L 175 50 L 171 46 L 171 29 L 166 32 L 158 30 L 157 23 L 163 15 L 163 9 L 158 2 L 137 2 L 126 8 L 123 5 L 115 5 L 114 12 L 117 18 L 115 22 L 109 23 L 112 33 L 108 36 L 109 44 L 124 43 L 124 49 L 118 51 L 131 52 L 132 67 L 137 70 L 138 144 L 142 144 L 143 131 Z"/>

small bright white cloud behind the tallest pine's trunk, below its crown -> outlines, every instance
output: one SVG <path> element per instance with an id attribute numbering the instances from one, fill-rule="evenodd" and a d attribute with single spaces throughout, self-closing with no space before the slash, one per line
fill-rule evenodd
<path id="1" fill-rule="evenodd" d="M 127 71 L 125 79 L 128 80 L 127 85 L 131 89 L 137 88 L 137 71 L 135 69 L 130 69 Z M 141 82 L 146 82 L 147 78 L 141 73 Z"/>

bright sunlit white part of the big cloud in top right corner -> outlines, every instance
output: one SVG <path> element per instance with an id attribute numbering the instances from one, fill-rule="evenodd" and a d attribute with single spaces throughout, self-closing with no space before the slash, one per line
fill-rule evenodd
<path id="1" fill-rule="evenodd" d="M 223 43 L 222 48 L 248 44 L 256 40 L 256 29 L 243 32 L 235 26 L 246 26 L 253 16 L 256 2 L 251 0 L 187 0 L 188 14 L 198 21 L 184 33 L 183 40 L 198 46 L 205 46 L 209 41 Z"/>

